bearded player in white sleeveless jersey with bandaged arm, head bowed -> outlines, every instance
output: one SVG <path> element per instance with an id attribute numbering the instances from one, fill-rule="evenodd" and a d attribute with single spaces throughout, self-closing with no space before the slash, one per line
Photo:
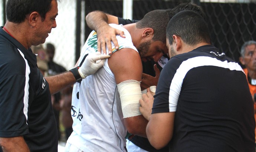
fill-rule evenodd
<path id="1" fill-rule="evenodd" d="M 145 137 L 147 120 L 141 115 L 138 102 L 142 98 L 141 58 L 155 59 L 167 52 L 165 31 L 170 13 L 171 10 L 154 10 L 137 23 L 111 24 L 123 30 L 126 38 L 116 36 L 119 49 L 114 50 L 103 68 L 74 84 L 73 132 L 66 151 L 126 152 L 127 131 Z M 96 51 L 97 33 L 93 31 L 81 57 Z"/>

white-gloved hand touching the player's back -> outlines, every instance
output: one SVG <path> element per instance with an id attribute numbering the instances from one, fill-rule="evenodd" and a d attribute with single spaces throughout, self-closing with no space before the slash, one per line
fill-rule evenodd
<path id="1" fill-rule="evenodd" d="M 89 54 L 82 66 L 79 67 L 78 72 L 80 76 L 84 79 L 86 76 L 94 74 L 99 68 L 104 65 L 104 59 L 109 58 L 110 55 L 101 55 L 101 53 L 96 52 Z"/>

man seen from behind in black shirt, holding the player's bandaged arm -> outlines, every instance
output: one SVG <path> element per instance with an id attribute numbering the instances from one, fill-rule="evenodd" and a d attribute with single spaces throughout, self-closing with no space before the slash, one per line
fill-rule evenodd
<path id="1" fill-rule="evenodd" d="M 253 100 L 242 67 L 211 45 L 207 23 L 181 11 L 166 32 L 171 59 L 140 99 L 147 137 L 170 152 L 255 152 Z"/>

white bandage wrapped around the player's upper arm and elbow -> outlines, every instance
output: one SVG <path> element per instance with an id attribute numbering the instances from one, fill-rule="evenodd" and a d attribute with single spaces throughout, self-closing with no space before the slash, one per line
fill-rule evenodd
<path id="1" fill-rule="evenodd" d="M 142 99 L 140 82 L 127 80 L 117 85 L 124 118 L 141 115 L 140 102 Z"/>

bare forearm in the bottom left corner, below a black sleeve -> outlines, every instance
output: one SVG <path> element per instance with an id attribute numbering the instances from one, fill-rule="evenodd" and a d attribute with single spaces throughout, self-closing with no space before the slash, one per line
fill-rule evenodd
<path id="1" fill-rule="evenodd" d="M 3 152 L 29 152 L 29 147 L 22 136 L 0 138 L 0 145 Z"/>

